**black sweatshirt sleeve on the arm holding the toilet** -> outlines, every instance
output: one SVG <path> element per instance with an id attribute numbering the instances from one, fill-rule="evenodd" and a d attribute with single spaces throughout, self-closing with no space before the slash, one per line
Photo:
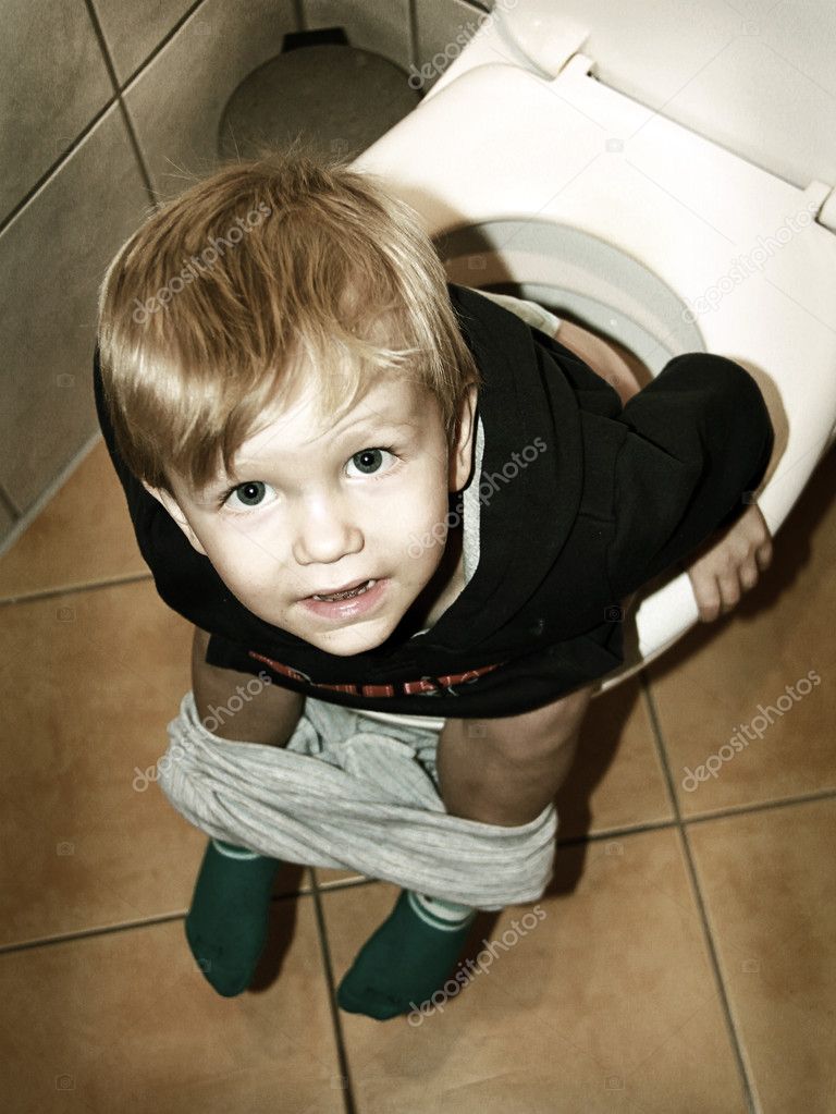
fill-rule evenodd
<path id="1" fill-rule="evenodd" d="M 730 527 L 753 501 L 775 432 L 755 379 L 725 356 L 688 353 L 624 405 L 607 568 L 621 598 Z"/>

